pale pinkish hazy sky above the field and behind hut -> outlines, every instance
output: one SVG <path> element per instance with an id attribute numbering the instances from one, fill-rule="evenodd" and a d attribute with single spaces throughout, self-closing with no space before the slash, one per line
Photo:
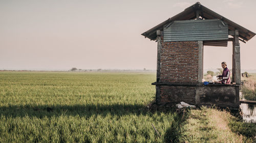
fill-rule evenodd
<path id="1" fill-rule="evenodd" d="M 156 69 L 157 43 L 141 34 L 198 1 L 0 0 L 0 70 Z M 256 1 L 200 3 L 256 33 Z M 241 69 L 256 69 L 256 37 Z M 232 67 L 228 47 L 204 47 L 204 69 Z"/>

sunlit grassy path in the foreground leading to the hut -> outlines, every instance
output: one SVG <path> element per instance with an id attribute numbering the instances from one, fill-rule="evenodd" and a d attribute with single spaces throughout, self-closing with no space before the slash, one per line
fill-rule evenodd
<path id="1" fill-rule="evenodd" d="M 180 142 L 253 142 L 255 124 L 250 128 L 246 123 L 237 121 L 230 112 L 215 108 L 201 107 L 201 109 L 188 110 L 187 120 L 182 123 L 183 131 L 179 137 Z M 236 127 L 236 125 L 244 127 Z M 249 125 L 249 124 L 247 124 Z M 248 126 L 247 126 L 248 127 Z"/>

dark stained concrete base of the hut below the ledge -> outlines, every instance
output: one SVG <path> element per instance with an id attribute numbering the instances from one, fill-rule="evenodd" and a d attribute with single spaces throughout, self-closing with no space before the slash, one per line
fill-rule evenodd
<path id="1" fill-rule="evenodd" d="M 180 85 L 157 83 L 160 87 L 159 105 L 176 104 L 181 101 L 197 106 L 239 108 L 239 85 L 209 84 Z"/>

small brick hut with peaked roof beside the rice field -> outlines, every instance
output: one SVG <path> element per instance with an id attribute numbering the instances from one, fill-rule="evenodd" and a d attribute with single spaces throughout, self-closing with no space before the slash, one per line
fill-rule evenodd
<path id="1" fill-rule="evenodd" d="M 245 43 L 255 33 L 196 3 L 141 35 L 158 42 L 157 80 L 152 83 L 158 105 L 184 101 L 239 108 L 239 41 Z M 203 46 L 227 47 L 228 41 L 233 45 L 231 84 L 204 85 Z"/>

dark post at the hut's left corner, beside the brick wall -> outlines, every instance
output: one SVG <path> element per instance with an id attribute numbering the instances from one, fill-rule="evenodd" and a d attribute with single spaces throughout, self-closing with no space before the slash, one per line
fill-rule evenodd
<path id="1" fill-rule="evenodd" d="M 160 82 L 161 31 L 157 30 L 157 83 Z M 156 103 L 160 101 L 160 85 L 156 85 Z"/>

